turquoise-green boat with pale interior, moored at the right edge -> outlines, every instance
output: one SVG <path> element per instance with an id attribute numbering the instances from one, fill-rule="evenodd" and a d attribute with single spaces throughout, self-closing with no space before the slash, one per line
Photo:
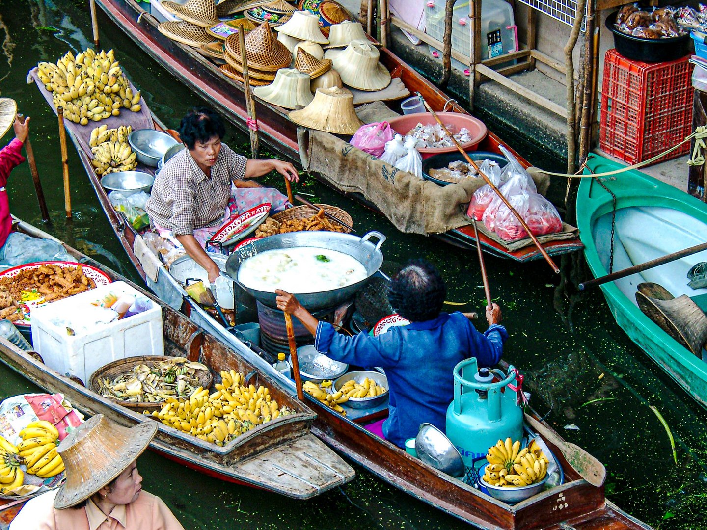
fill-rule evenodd
<path id="1" fill-rule="evenodd" d="M 587 165 L 585 173 L 623 167 L 599 155 L 591 155 Z M 598 179 L 601 184 L 597 179 L 582 179 L 577 198 L 578 228 L 594 276 L 609 273 L 614 196 L 614 271 L 707 241 L 707 206 L 699 199 L 638 170 L 621 173 L 614 179 Z M 693 290 L 687 285 L 686 273 L 699 261 L 707 261 L 707 252 L 604 283 L 601 288 L 614 318 L 631 340 L 707 407 L 707 354 L 703 351 L 699 358 L 684 348 L 643 314 L 636 303 L 636 286 L 655 282 L 674 297 L 688 295 L 702 310 L 707 309 L 707 289 Z"/>

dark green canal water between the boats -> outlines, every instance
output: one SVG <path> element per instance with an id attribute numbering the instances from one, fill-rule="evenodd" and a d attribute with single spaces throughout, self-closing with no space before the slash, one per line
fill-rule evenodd
<path id="1" fill-rule="evenodd" d="M 100 40 L 115 49 L 123 70 L 152 110 L 170 127 L 201 104 L 149 59 L 99 10 Z M 32 117 L 30 137 L 52 216 L 43 225 L 28 165 L 8 184 L 11 210 L 86 254 L 139 281 L 108 225 L 69 143 L 73 219 L 64 216 L 57 119 L 26 73 L 37 61 L 56 61 L 90 44 L 88 1 L 0 0 L 0 92 Z M 6 143 L 11 136 L 6 136 Z M 513 145 L 513 140 L 511 145 Z M 226 141 L 245 153 L 247 138 L 233 126 Z M 533 153 L 522 151 L 530 158 Z M 532 159 L 535 165 L 540 161 Z M 542 161 L 546 167 L 557 160 Z M 273 182 L 276 182 L 275 180 Z M 484 291 L 474 252 L 438 240 L 396 232 L 366 208 L 307 179 L 297 191 L 345 208 L 358 230 L 385 232 L 385 259 L 426 257 L 448 282 L 448 310 L 483 312 Z M 660 235 L 656 235 L 660 237 Z M 707 412 L 626 337 L 601 293 L 586 293 L 567 315 L 556 297 L 560 281 L 541 261 L 516 264 L 486 258 L 491 293 L 510 331 L 504 358 L 525 374 L 532 405 L 570 442 L 607 467 L 607 498 L 660 529 L 707 528 Z M 558 311 L 555 307 L 559 307 Z M 485 329 L 485 324 L 479 324 Z M 435 382 L 429 382 L 434 385 Z M 36 387 L 0 366 L 0 399 Z M 649 408 L 655 406 L 665 425 Z M 667 430 L 674 438 L 677 464 Z M 314 500 L 279 495 L 203 476 L 146 452 L 139 460 L 144 488 L 160 495 L 187 529 L 462 528 L 465 525 L 357 468 L 356 479 Z"/>

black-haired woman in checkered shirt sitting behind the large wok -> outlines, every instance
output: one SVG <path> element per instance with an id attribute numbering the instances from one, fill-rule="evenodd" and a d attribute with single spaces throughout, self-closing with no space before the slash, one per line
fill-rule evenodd
<path id="1" fill-rule="evenodd" d="M 299 180 L 297 170 L 289 162 L 248 160 L 234 153 L 221 143 L 225 134 L 226 127 L 213 110 L 199 107 L 187 112 L 180 123 L 180 135 L 187 148 L 165 163 L 146 205 L 160 235 L 183 247 L 209 273 L 211 283 L 218 278 L 219 270 L 204 247 L 219 228 L 258 204 L 270 203 L 273 211 L 288 206 L 287 197 L 276 189 L 239 189 L 235 182 L 271 171 L 279 172 L 290 182 Z"/>

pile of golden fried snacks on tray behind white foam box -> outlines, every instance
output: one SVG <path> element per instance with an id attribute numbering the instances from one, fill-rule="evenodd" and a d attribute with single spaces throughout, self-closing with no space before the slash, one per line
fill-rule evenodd
<path id="1" fill-rule="evenodd" d="M 83 274 L 81 264 L 64 269 L 54 264 L 24 269 L 13 278 L 0 278 L 0 319 L 23 319 L 24 310 L 18 306 L 32 298 L 54 302 L 94 287 L 95 282 Z"/>

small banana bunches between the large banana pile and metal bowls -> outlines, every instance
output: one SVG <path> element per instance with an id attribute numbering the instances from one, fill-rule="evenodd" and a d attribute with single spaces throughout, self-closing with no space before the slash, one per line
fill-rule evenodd
<path id="1" fill-rule="evenodd" d="M 98 175 L 103 177 L 108 173 L 132 171 L 137 167 L 136 155 L 128 143 L 130 133 L 130 125 L 121 125 L 117 129 L 100 125 L 90 132 L 88 143 L 93 153 L 90 163 Z"/>

